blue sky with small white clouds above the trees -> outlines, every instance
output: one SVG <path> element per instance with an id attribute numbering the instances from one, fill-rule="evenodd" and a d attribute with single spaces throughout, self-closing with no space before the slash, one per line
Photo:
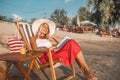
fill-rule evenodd
<path id="1" fill-rule="evenodd" d="M 88 0 L 0 0 L 0 15 L 29 21 L 31 18 L 50 18 L 55 9 L 64 9 L 67 16 L 73 18 L 87 2 Z"/>

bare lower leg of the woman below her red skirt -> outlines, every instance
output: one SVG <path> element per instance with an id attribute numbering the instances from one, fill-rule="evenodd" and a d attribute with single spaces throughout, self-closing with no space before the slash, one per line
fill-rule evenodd
<path id="1" fill-rule="evenodd" d="M 82 70 L 84 76 L 88 79 L 88 80 L 97 80 L 96 77 L 93 77 L 85 59 L 84 56 L 82 54 L 82 52 L 79 52 L 79 54 L 77 55 L 76 58 L 76 62 L 78 63 L 80 69 Z"/>

